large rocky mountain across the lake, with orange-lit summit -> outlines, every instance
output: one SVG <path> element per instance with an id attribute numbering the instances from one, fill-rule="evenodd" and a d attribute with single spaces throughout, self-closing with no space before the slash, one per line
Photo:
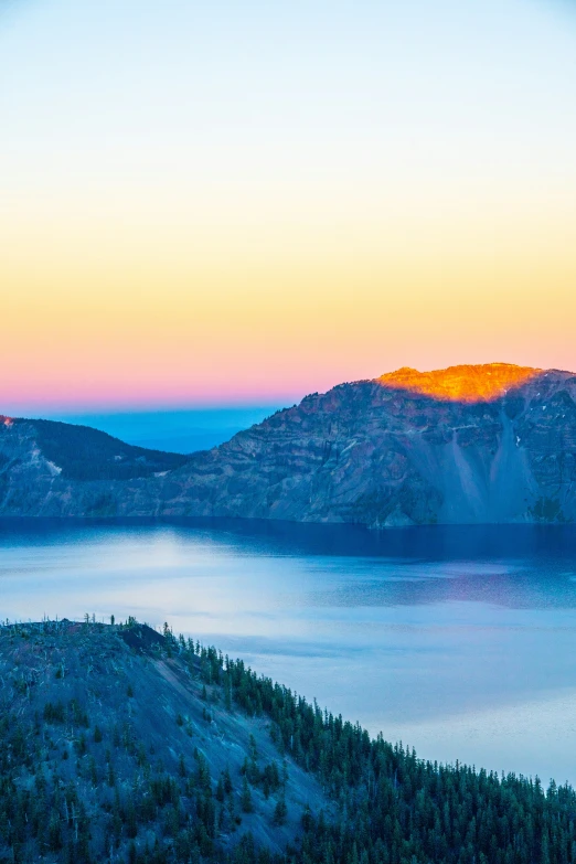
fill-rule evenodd
<path id="1" fill-rule="evenodd" d="M 32 510 L 85 514 L 89 493 L 105 495 L 109 515 L 572 522 L 576 376 L 508 364 L 399 370 L 307 396 L 162 477 L 52 488 L 63 483 L 61 499 L 53 491 Z"/>

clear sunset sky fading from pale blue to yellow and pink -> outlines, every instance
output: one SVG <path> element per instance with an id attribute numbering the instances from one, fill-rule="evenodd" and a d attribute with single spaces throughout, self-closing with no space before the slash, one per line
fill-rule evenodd
<path id="1" fill-rule="evenodd" d="M 572 0 L 0 0 L 0 413 L 576 370 Z"/>

